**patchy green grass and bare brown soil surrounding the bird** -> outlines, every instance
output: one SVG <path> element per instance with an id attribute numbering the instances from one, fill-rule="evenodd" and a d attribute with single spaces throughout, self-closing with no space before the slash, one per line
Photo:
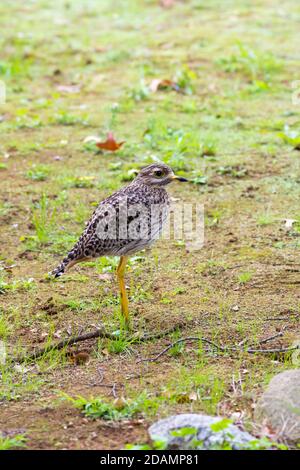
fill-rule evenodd
<path id="1" fill-rule="evenodd" d="M 295 340 L 300 229 L 295 222 L 285 230 L 282 221 L 299 220 L 298 6 L 45 0 L 0 10 L 0 79 L 8 90 L 0 110 L 0 337 L 8 356 L 1 401 L 10 402 L 1 429 L 25 426 L 30 448 L 121 448 L 125 439 L 143 442 L 150 421 L 171 413 L 230 418 L 239 409 L 249 426 L 265 378 L 292 367 L 287 356 L 228 358 L 194 343 L 155 363 L 138 360 L 190 334 L 247 345 L 288 324 L 280 341 Z M 154 79 L 176 86 L 151 92 Z M 109 130 L 125 141 L 116 153 L 85 141 Z M 99 201 L 156 161 L 190 180 L 169 191 L 174 203 L 204 204 L 205 243 L 194 252 L 185 240 L 161 240 L 130 259 L 132 342 L 120 328 L 117 257 L 83 263 L 55 281 L 45 273 Z M 282 322 L 265 320 L 281 314 Z M 138 341 L 183 320 L 172 337 Z M 74 345 L 25 363 L 26 373 L 8 367 L 12 354 L 99 326 L 116 338 L 82 344 L 87 363 L 71 361 L 81 347 Z M 239 393 L 233 375 L 241 377 Z M 125 421 L 144 421 L 123 432 L 122 418 L 114 434 L 99 432 L 95 420 L 82 432 L 75 410 L 78 421 L 63 406 L 52 410 L 54 388 L 88 397 L 91 383 L 98 397 L 85 399 L 91 409 L 122 414 L 106 387 L 116 383 L 124 414 L 140 410 Z M 45 406 L 52 411 L 40 413 Z M 60 425 L 69 421 L 72 432 Z"/>

